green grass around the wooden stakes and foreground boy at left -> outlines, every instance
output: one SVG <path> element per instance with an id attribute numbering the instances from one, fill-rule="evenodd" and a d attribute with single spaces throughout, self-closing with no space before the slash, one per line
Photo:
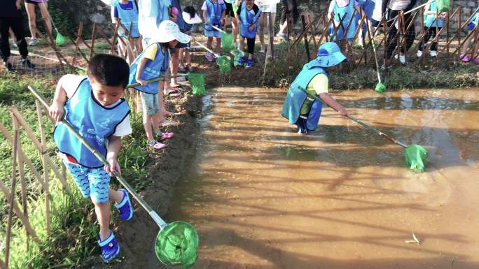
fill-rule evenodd
<path id="1" fill-rule="evenodd" d="M 51 99 L 56 82 L 57 78 L 48 75 L 41 80 L 25 78 L 20 75 L 0 75 L 0 99 L 2 101 L 0 103 L 0 122 L 13 133 L 10 108 L 11 106 L 16 106 L 25 118 L 25 121 L 31 126 L 36 137 L 40 138 L 34 105 L 35 99 L 27 90 L 27 85 L 33 85 L 36 89 L 39 89 L 43 96 Z M 48 154 L 60 166 L 60 160 L 56 157 L 56 147 L 52 139 L 53 124 L 46 116 L 43 117 L 43 122 L 48 142 Z M 144 150 L 145 141 L 141 115 L 132 115 L 131 122 L 134 133 L 123 139 L 123 148 L 118 161 L 123 168 L 123 176 L 129 180 L 132 187 L 138 190 L 148 183 L 148 180 L 146 180 L 146 170 L 144 169 L 148 160 L 148 152 Z M 22 150 L 32 161 L 36 169 L 43 173 L 38 150 L 27 138 L 24 131 L 20 131 L 20 133 Z M 3 135 L 0 134 L 0 137 L 0 158 L 4 160 L 2 161 L 2 166 L 0 166 L 0 179 L 10 188 L 12 148 Z M 69 187 L 74 191 L 73 196 L 69 196 L 62 190 L 60 181 L 55 178 L 51 171 L 48 172 L 48 176 L 50 178 L 50 195 L 53 198 L 51 203 L 52 232 L 50 235 L 46 233 L 45 196 L 43 191 L 41 191 L 41 185 L 39 182 L 36 182 L 31 171 L 25 166 L 29 218 L 34 230 L 39 235 L 41 243 L 36 244 L 30 240 L 29 249 L 26 249 L 25 242 L 27 242 L 27 236 L 25 235 L 25 228 L 23 228 L 18 219 L 14 218 L 10 268 L 23 269 L 27 268 L 27 264 L 31 264 L 32 268 L 52 268 L 57 265 L 73 266 L 87 257 L 99 254 L 96 242 L 98 226 L 92 203 L 88 199 L 83 199 L 70 178 L 67 179 L 67 182 L 69 182 Z M 117 185 L 114 180 L 112 180 L 112 185 Z M 20 203 L 20 182 L 17 183 L 16 189 L 18 202 Z M 2 221 L 0 237 L 5 238 L 8 205 L 6 205 L 3 194 L 0 194 L 0 208 L 0 219 Z M 114 221 L 116 219 L 113 219 L 112 223 Z M 4 259 L 4 247 L 4 242 L 2 242 L 0 244 L 1 259 Z"/>

